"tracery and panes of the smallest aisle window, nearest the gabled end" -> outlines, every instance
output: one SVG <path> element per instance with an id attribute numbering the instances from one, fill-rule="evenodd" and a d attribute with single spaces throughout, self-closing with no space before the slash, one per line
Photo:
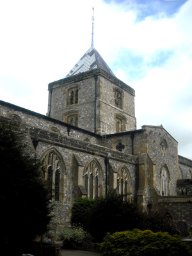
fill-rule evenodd
<path id="1" fill-rule="evenodd" d="M 129 175 L 125 168 L 121 168 L 117 175 L 117 191 L 121 195 L 127 195 L 130 191 Z M 129 197 L 129 195 L 127 195 Z M 126 197 L 127 197 L 126 196 Z"/>

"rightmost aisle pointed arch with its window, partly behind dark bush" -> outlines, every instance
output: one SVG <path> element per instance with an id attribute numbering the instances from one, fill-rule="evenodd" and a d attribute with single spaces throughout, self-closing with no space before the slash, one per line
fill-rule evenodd
<path id="1" fill-rule="evenodd" d="M 125 195 L 126 198 L 131 198 L 131 175 L 125 165 L 118 168 L 116 184 L 118 193 Z"/>

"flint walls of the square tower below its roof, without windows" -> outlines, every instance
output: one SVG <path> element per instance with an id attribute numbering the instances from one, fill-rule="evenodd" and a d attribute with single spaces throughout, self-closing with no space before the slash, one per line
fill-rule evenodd
<path id="1" fill-rule="evenodd" d="M 95 116 L 95 77 L 97 87 L 96 116 Z M 78 104 L 69 105 L 67 102 L 68 90 L 77 86 L 79 88 Z M 115 88 L 122 92 L 123 108 L 115 107 Z M 87 131 L 100 133 L 101 129 L 108 129 L 108 133 L 116 132 L 115 115 L 123 115 L 125 131 L 136 129 L 134 116 L 134 90 L 119 79 L 110 76 L 100 68 L 67 77 L 49 84 L 49 110 L 51 117 L 65 120 L 65 115 L 77 111 L 79 116 L 78 126 Z M 52 90 L 52 96 L 51 95 Z"/>

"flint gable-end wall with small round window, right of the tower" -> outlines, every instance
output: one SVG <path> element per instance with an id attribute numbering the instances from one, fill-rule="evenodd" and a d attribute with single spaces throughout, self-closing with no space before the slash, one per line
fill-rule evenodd
<path id="1" fill-rule="evenodd" d="M 143 133 L 138 134 L 138 149 L 135 154 L 146 152 L 152 162 L 156 164 L 156 189 L 160 195 L 160 173 L 165 165 L 170 173 L 170 195 L 177 195 L 177 179 L 179 179 L 179 165 L 177 141 L 164 130 L 163 126 L 143 125 Z M 143 146 L 142 146 L 143 142 Z M 135 144 L 136 145 L 136 144 Z M 137 152 L 137 153 L 136 153 Z"/>

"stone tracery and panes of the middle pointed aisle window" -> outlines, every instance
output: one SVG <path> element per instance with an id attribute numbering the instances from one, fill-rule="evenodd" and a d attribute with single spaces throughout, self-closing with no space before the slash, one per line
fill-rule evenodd
<path id="1" fill-rule="evenodd" d="M 98 198 L 101 192 L 99 188 L 99 173 L 99 166 L 95 161 L 91 161 L 84 172 L 84 189 L 90 199 Z"/>

